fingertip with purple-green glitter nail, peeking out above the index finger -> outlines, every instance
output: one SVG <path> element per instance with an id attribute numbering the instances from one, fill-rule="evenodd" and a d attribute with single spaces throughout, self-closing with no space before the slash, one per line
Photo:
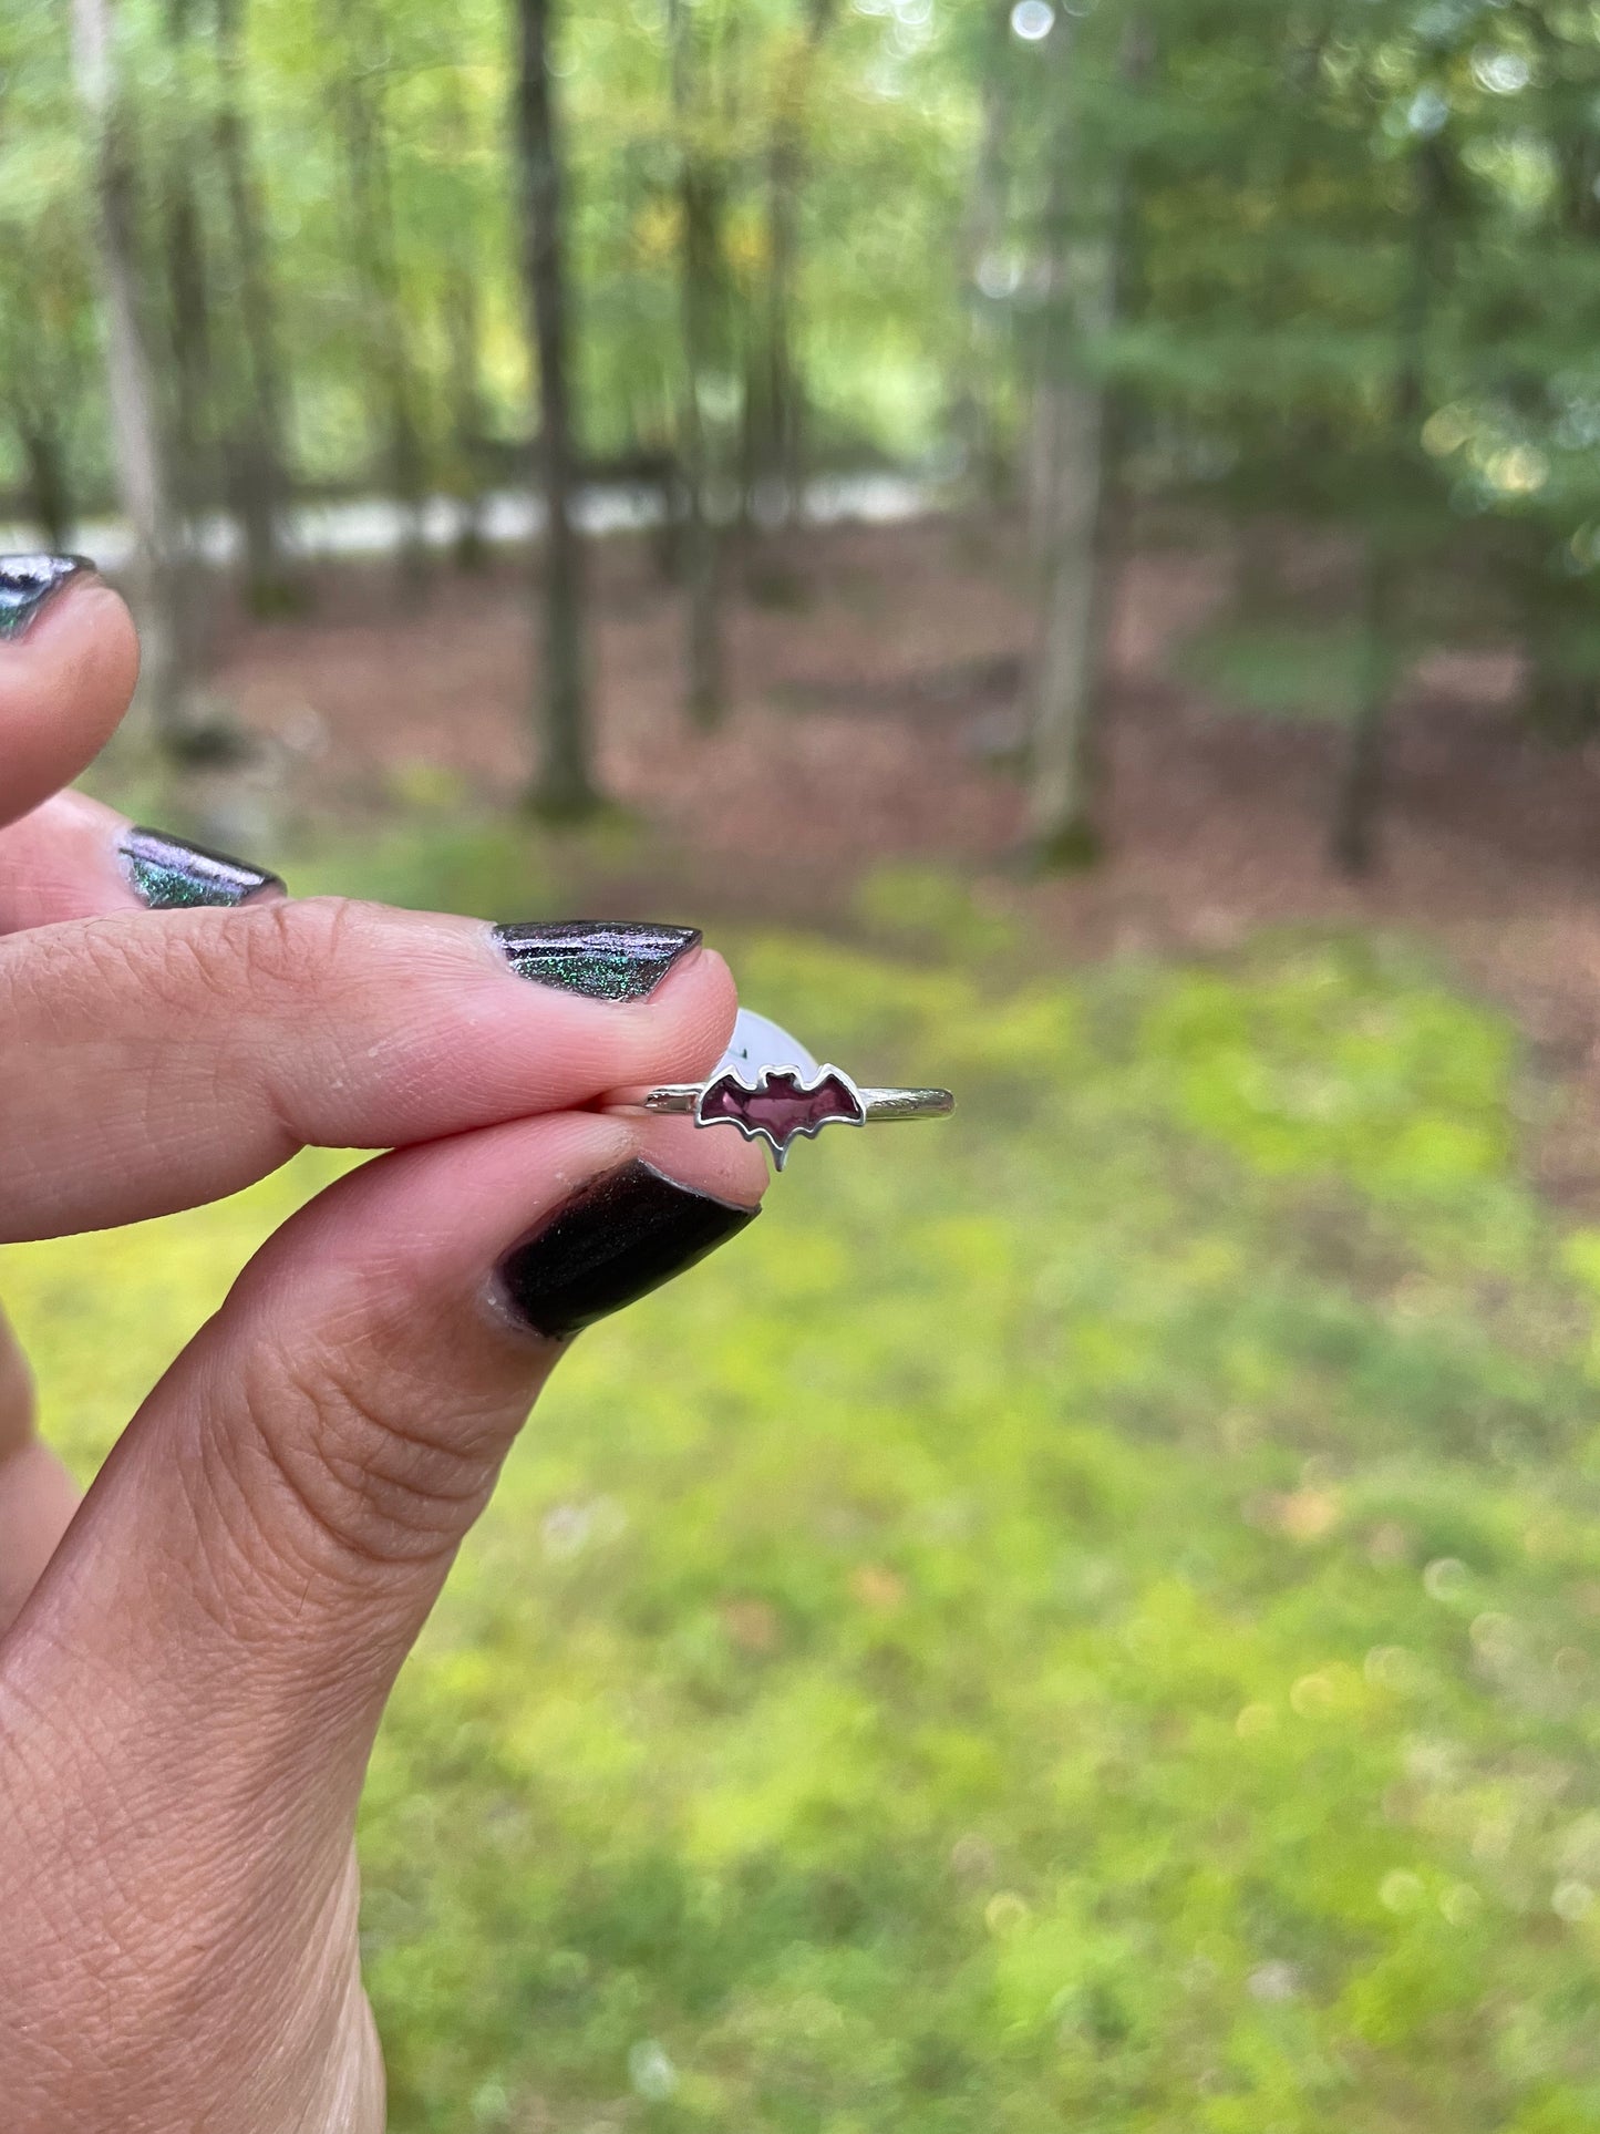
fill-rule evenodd
<path id="1" fill-rule="evenodd" d="M 51 794 L 0 830 L 0 935 L 282 894 L 265 866 L 139 828 L 87 794 Z"/>

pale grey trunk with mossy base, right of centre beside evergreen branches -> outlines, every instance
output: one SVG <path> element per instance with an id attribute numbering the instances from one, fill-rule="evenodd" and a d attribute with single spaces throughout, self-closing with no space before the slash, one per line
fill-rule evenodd
<path id="1" fill-rule="evenodd" d="M 1039 657 L 1033 679 L 1028 751 L 1028 841 L 1045 866 L 1082 866 L 1099 856 L 1099 691 L 1101 587 L 1109 546 L 1107 388 L 1082 369 L 1082 341 L 1116 322 L 1126 254 L 1129 177 L 1109 177 L 1107 220 L 1092 265 L 1073 292 L 1071 181 L 1071 17 L 1060 15 L 1056 51 L 1058 120 L 1047 237 L 1045 335 L 1035 403 L 1035 538 L 1043 578 Z M 1124 36 L 1122 73 L 1135 79 L 1148 60 L 1143 23 Z"/>

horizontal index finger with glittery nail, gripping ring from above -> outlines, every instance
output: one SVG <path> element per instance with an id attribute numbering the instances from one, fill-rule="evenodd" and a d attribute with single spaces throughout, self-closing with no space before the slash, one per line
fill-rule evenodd
<path id="1" fill-rule="evenodd" d="M 395 1148 L 685 1080 L 734 1012 L 693 928 L 329 898 L 11 935 L 0 1238 L 215 1199 L 305 1144 Z"/>

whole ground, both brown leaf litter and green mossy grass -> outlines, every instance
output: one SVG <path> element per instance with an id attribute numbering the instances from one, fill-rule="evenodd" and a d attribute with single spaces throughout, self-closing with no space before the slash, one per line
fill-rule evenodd
<path id="1" fill-rule="evenodd" d="M 602 580 L 636 826 L 582 841 L 510 807 L 510 568 L 228 644 L 297 886 L 638 890 L 960 1110 L 798 1150 L 514 1449 L 363 1810 L 397 2134 L 1591 2134 L 1600 1137 L 1487 992 L 1583 1069 L 1594 766 L 1436 664 L 1338 886 L 1327 736 L 1173 679 L 1225 583 L 1150 555 L 1114 856 L 1037 886 L 1005 546 L 826 538 L 710 740 Z M 341 1161 L 0 1255 L 85 1477 Z"/>

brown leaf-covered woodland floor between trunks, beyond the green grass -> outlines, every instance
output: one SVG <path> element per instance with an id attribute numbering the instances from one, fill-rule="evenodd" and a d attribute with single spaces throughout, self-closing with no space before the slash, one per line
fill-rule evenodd
<path id="1" fill-rule="evenodd" d="M 1030 642 L 1011 536 L 949 519 L 838 527 L 777 563 L 766 598 L 732 612 L 732 711 L 706 736 L 678 708 L 676 593 L 644 544 L 599 551 L 602 777 L 644 828 L 599 875 L 574 858 L 582 894 L 836 926 L 868 869 L 922 860 L 1026 909 L 1065 958 L 1216 954 L 1282 924 L 1421 935 L 1517 1014 L 1564 1090 L 1538 1135 L 1540 1182 L 1600 1208 L 1600 747 L 1519 732 L 1510 655 L 1417 670 L 1380 866 L 1346 883 L 1325 862 L 1338 736 L 1180 676 L 1184 638 L 1229 600 L 1227 551 L 1143 553 L 1111 632 L 1109 856 L 1030 883 L 1005 764 Z M 288 768 L 294 809 L 322 828 L 375 826 L 397 802 L 503 809 L 529 773 L 525 617 L 512 557 L 403 602 L 390 570 L 348 568 L 314 619 L 233 627 L 218 687 L 275 736 L 273 783 Z"/>

